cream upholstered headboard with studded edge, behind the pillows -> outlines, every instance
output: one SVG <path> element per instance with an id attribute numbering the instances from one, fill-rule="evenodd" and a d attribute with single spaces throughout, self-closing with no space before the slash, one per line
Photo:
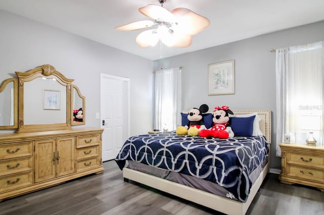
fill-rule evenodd
<path id="1" fill-rule="evenodd" d="M 271 144 L 271 111 L 270 110 L 231 110 L 234 115 L 253 114 L 257 113 L 260 117 L 260 130 L 266 137 L 267 142 Z M 188 113 L 189 111 L 183 111 L 182 113 Z M 214 111 L 208 111 L 207 113 L 213 114 Z"/>

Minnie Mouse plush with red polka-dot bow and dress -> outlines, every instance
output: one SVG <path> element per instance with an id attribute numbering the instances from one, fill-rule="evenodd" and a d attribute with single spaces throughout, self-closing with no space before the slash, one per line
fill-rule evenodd
<path id="1" fill-rule="evenodd" d="M 201 137 L 212 136 L 220 139 L 234 137 L 232 128 L 229 127 L 230 118 L 228 117 L 228 114 L 233 114 L 233 112 L 229 110 L 228 106 L 217 106 L 213 114 L 214 126 L 209 130 L 201 130 L 199 135 Z"/>

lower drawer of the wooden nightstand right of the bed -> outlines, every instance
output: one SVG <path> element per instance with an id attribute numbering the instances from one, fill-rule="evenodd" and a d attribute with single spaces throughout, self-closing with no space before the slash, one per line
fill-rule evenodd
<path id="1" fill-rule="evenodd" d="M 301 179 L 324 182 L 324 170 L 314 170 L 311 168 L 303 168 L 289 165 L 287 175 Z"/>

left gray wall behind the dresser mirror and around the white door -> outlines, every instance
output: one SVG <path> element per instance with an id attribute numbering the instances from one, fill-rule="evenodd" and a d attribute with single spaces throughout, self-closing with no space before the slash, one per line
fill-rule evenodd
<path id="1" fill-rule="evenodd" d="M 0 10 L 0 82 L 44 64 L 74 79 L 86 97 L 82 127 L 100 127 L 95 113 L 100 113 L 100 73 L 105 73 L 130 78 L 131 135 L 152 129 L 151 60 Z"/>

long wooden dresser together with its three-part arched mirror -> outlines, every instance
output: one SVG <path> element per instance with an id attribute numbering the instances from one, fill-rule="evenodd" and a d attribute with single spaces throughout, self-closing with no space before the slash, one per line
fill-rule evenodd
<path id="1" fill-rule="evenodd" d="M 16 75 L 0 85 L 0 129 L 16 129 L 0 134 L 0 201 L 102 173 L 103 129 L 72 128 L 86 124 L 73 79 L 49 64 Z M 75 110 L 83 113 L 77 121 Z"/>

